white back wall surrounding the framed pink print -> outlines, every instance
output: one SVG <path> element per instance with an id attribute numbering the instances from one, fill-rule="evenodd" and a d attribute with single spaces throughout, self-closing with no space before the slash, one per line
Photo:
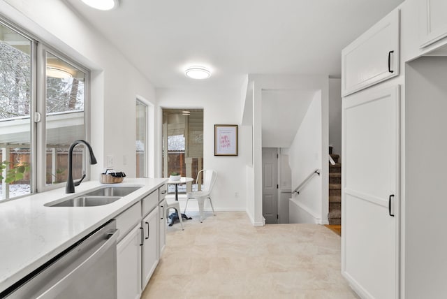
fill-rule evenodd
<path id="1" fill-rule="evenodd" d="M 160 108 L 203 108 L 203 168 L 217 170 L 217 183 L 212 191 L 214 209 L 246 210 L 249 127 L 238 127 L 238 156 L 214 156 L 214 124 L 240 125 L 240 89 L 156 89 L 156 99 Z M 205 205 L 205 209 L 209 208 Z"/>

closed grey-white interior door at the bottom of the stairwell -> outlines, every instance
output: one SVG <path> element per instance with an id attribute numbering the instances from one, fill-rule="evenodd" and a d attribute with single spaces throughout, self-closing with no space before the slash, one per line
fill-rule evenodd
<path id="1" fill-rule="evenodd" d="M 263 217 L 266 224 L 278 223 L 278 150 L 263 148 Z"/>

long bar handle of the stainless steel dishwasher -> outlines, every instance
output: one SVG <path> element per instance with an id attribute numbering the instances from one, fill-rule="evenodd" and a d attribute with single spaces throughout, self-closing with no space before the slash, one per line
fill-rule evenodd
<path id="1" fill-rule="evenodd" d="M 91 256 L 85 259 L 85 261 L 82 261 L 80 265 L 78 265 L 76 268 L 74 268 L 71 272 L 69 272 L 64 277 L 61 277 L 59 281 L 57 281 L 54 285 L 50 287 L 50 289 L 47 289 L 45 293 L 41 294 L 41 296 L 38 296 L 37 299 L 46 299 L 46 298 L 56 298 L 61 291 L 64 291 L 67 286 L 69 286 L 73 282 L 73 277 L 75 275 L 79 275 L 79 273 L 76 272 L 82 272 L 82 270 L 87 270 L 91 265 L 94 265 L 96 261 L 98 261 L 99 258 L 107 251 L 116 241 L 119 235 L 119 231 L 115 229 L 113 233 L 108 233 L 109 238 L 104 242 L 101 247 L 96 249 Z"/>

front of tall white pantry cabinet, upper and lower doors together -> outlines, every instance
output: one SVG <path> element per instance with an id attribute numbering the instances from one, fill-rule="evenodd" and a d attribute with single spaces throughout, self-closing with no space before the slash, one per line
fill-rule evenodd
<path id="1" fill-rule="evenodd" d="M 362 298 L 400 298 L 399 29 L 396 9 L 342 51 L 342 275 Z"/>

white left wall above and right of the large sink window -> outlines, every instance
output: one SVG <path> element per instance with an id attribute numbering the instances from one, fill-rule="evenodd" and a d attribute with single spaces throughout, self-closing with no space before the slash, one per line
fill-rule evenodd
<path id="1" fill-rule="evenodd" d="M 91 70 L 90 140 L 98 160 L 91 179 L 98 180 L 107 155 L 114 156 L 115 169 L 134 177 L 135 99 L 155 102 L 151 82 L 63 1 L 0 1 L 0 14 Z"/>

